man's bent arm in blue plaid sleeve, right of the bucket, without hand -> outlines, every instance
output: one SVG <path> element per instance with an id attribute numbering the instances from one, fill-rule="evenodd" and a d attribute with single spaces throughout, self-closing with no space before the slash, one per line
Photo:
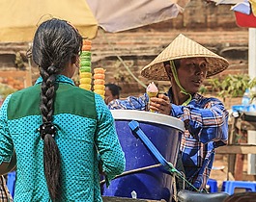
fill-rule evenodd
<path id="1" fill-rule="evenodd" d="M 228 139 L 228 112 L 216 98 L 192 100 L 187 106 L 172 104 L 171 115 L 187 123 L 189 133 L 203 143 L 214 141 L 214 147 Z"/>

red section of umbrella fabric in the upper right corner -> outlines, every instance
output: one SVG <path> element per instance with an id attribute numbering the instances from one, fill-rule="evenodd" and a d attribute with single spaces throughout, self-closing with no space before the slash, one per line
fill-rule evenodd
<path id="1" fill-rule="evenodd" d="M 240 27 L 256 28 L 256 16 L 253 13 L 244 14 L 240 12 L 235 12 L 237 24 Z"/>

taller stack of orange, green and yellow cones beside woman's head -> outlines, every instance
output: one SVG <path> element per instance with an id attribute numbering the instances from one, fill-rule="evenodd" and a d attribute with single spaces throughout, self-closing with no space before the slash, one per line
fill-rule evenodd
<path id="1" fill-rule="evenodd" d="M 92 73 L 91 73 L 91 40 L 84 39 L 82 53 L 80 55 L 80 74 L 79 88 L 91 90 L 92 88 Z"/>

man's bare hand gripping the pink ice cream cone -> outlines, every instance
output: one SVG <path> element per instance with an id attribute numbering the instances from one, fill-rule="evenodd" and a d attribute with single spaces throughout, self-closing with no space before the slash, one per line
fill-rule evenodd
<path id="1" fill-rule="evenodd" d="M 164 94 L 158 94 L 158 97 L 152 97 L 150 99 L 150 110 L 160 114 L 171 114 L 172 105 L 168 96 Z"/>

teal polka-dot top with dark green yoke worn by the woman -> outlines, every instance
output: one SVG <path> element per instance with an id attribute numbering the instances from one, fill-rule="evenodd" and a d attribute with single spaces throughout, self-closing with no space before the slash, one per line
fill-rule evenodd
<path id="1" fill-rule="evenodd" d="M 43 139 L 39 127 L 42 78 L 35 86 L 9 95 L 0 110 L 0 164 L 16 153 L 14 201 L 51 201 L 43 173 Z M 114 119 L 99 94 L 57 77 L 53 123 L 61 153 L 61 201 L 97 202 L 100 196 L 99 161 L 110 181 L 125 169 L 124 152 Z M 100 156 L 100 159 L 99 159 Z"/>

